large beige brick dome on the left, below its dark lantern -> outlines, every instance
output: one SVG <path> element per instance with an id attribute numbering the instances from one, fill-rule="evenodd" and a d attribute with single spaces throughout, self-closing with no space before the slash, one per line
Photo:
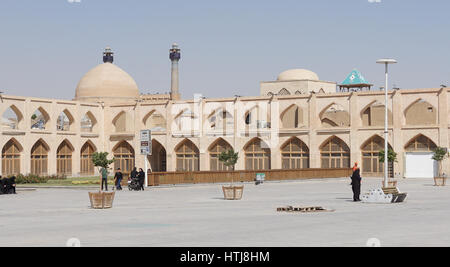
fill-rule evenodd
<path id="1" fill-rule="evenodd" d="M 75 100 L 111 101 L 139 98 L 139 89 L 134 79 L 121 68 L 106 62 L 81 78 Z"/>

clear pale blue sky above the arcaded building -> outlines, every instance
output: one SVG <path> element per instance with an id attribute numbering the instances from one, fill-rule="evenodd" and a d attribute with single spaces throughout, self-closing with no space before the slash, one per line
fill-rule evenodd
<path id="1" fill-rule="evenodd" d="M 72 99 L 103 48 L 142 93 L 170 87 L 179 43 L 185 98 L 259 95 L 291 68 L 342 82 L 353 68 L 377 87 L 381 57 L 401 88 L 450 83 L 448 0 L 1 0 L 0 91 Z"/>

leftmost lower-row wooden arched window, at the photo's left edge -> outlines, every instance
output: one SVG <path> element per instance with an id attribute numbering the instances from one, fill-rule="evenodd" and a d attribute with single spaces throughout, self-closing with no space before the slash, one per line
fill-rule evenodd
<path id="1" fill-rule="evenodd" d="M 11 139 L 2 149 L 2 174 L 4 176 L 20 174 L 20 144 Z"/>

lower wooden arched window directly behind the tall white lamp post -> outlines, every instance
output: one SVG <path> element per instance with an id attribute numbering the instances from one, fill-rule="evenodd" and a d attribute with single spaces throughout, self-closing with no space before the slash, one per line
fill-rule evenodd
<path id="1" fill-rule="evenodd" d="M 392 150 L 392 147 L 389 146 Z M 379 136 L 370 138 L 361 148 L 362 171 L 365 175 L 380 176 L 384 172 L 384 163 L 380 163 L 380 151 L 384 150 L 384 139 Z M 392 164 L 391 164 L 392 165 Z M 393 166 L 390 166 L 392 168 Z"/>

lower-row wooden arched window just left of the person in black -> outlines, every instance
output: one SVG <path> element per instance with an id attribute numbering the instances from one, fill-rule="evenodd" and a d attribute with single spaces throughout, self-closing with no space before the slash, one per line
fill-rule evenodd
<path id="1" fill-rule="evenodd" d="M 350 149 L 336 136 L 328 139 L 320 148 L 321 165 L 324 169 L 350 168 Z"/>

